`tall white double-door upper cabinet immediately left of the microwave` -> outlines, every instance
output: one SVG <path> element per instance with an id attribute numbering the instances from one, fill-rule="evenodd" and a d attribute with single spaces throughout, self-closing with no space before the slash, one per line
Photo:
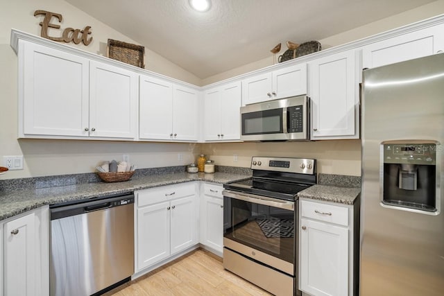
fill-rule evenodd
<path id="1" fill-rule="evenodd" d="M 205 141 L 239 141 L 241 82 L 209 89 L 204 97 Z"/>

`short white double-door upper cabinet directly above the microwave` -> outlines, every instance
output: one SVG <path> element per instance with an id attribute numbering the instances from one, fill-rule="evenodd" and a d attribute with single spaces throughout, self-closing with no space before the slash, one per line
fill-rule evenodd
<path id="1" fill-rule="evenodd" d="M 242 80 L 242 105 L 307 94 L 307 64 L 296 64 Z"/>

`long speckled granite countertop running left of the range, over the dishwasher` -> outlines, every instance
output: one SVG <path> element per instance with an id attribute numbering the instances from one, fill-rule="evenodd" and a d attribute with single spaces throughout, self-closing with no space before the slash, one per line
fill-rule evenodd
<path id="1" fill-rule="evenodd" d="M 112 194 L 128 193 L 141 189 L 167 186 L 183 182 L 205 181 L 223 184 L 250 177 L 239 173 L 166 173 L 134 177 L 127 182 L 94 182 L 49 186 L 40 189 L 24 189 L 0 192 L 0 220 L 22 214 L 46 204 L 58 204 L 69 200 L 83 200 Z"/>

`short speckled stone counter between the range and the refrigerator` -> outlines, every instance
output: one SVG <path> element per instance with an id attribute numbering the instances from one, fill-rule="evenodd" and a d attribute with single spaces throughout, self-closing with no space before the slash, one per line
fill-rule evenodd
<path id="1" fill-rule="evenodd" d="M 319 174 L 318 184 L 298 192 L 299 198 L 354 204 L 361 193 L 361 177 Z"/>

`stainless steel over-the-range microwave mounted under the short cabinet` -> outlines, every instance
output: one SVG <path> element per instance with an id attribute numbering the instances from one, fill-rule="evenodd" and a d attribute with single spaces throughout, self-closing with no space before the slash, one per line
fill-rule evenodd
<path id="1" fill-rule="evenodd" d="M 242 141 L 308 141 L 309 98 L 293 96 L 241 107 Z"/>

